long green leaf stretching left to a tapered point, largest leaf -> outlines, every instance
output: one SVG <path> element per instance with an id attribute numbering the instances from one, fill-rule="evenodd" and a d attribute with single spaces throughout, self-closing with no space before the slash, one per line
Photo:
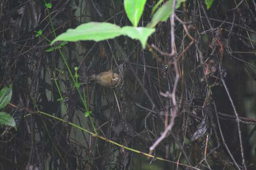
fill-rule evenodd
<path id="1" fill-rule="evenodd" d="M 90 22 L 77 26 L 75 29 L 68 29 L 65 33 L 58 35 L 51 45 L 56 41 L 85 41 L 93 40 L 96 42 L 115 38 L 122 34 L 121 27 L 110 23 Z"/>

